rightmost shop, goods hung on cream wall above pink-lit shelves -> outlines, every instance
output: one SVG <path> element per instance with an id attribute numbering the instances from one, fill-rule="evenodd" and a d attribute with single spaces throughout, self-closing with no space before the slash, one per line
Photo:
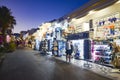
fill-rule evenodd
<path id="1" fill-rule="evenodd" d="M 111 64 L 110 43 L 120 42 L 120 13 L 106 14 L 93 20 L 94 39 L 91 41 L 91 55 L 94 62 Z"/>

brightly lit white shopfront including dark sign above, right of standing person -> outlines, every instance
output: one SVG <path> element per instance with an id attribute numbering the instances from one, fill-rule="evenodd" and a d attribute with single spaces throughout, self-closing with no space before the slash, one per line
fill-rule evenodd
<path id="1" fill-rule="evenodd" d="M 70 34 L 67 39 L 73 42 L 74 55 L 76 59 L 91 59 L 89 32 Z"/>

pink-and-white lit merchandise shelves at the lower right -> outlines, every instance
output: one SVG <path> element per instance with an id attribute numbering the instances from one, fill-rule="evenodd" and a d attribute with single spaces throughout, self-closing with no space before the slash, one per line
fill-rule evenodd
<path id="1" fill-rule="evenodd" d="M 111 62 L 111 50 L 108 42 L 94 41 L 94 49 L 92 59 L 96 63 L 110 63 Z"/>

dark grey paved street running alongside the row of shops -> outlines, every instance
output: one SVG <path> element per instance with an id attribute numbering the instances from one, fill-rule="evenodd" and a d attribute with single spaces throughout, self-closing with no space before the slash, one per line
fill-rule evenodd
<path id="1" fill-rule="evenodd" d="M 8 53 L 0 66 L 0 80 L 111 80 L 101 75 L 42 56 L 38 51 L 18 49 Z"/>

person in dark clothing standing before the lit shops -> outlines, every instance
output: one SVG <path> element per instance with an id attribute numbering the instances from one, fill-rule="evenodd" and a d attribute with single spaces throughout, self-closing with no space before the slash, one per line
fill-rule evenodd
<path id="1" fill-rule="evenodd" d="M 66 62 L 68 62 L 68 59 L 69 59 L 69 62 L 71 62 L 72 52 L 73 52 L 72 42 L 67 40 L 67 42 L 66 42 Z"/>

